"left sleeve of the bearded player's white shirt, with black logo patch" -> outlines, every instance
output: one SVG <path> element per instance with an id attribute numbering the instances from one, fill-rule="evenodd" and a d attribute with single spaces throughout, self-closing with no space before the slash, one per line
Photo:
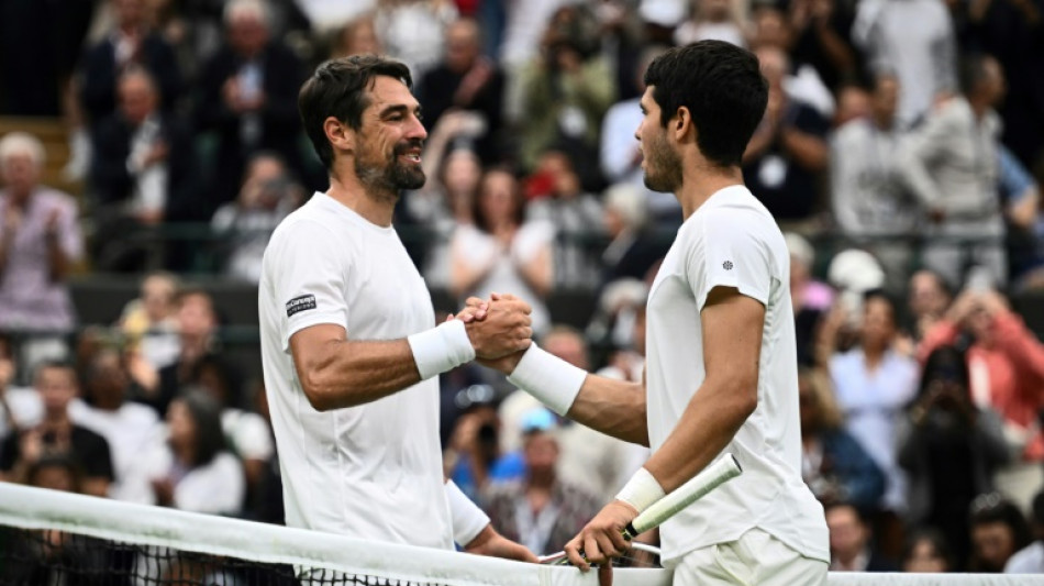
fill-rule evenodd
<path id="1" fill-rule="evenodd" d="M 281 244 L 273 287 L 281 303 L 277 310 L 287 316 L 282 349 L 289 347 L 290 336 L 311 325 L 332 323 L 347 330 L 344 290 L 351 261 L 344 254 L 323 253 L 343 248 L 343 242 L 327 228 L 301 221 L 288 226 Z"/>

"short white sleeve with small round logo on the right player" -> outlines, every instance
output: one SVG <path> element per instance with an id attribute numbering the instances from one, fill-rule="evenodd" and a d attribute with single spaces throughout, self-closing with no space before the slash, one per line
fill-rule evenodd
<path id="1" fill-rule="evenodd" d="M 686 280 L 702 311 L 715 287 L 732 287 L 768 303 L 773 281 L 768 246 L 755 233 L 754 218 L 729 209 L 708 210 L 701 233 L 689 246 Z"/>

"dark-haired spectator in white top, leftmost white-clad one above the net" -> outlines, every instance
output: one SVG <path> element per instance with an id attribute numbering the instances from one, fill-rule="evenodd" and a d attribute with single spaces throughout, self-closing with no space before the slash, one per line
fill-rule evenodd
<path id="1" fill-rule="evenodd" d="M 163 441 L 163 427 L 155 411 L 127 400 L 130 386 L 120 353 L 102 350 L 84 373 L 84 399 L 73 400 L 69 418 L 109 443 L 115 478 L 108 496 L 152 505 L 154 495 L 145 458 Z"/>

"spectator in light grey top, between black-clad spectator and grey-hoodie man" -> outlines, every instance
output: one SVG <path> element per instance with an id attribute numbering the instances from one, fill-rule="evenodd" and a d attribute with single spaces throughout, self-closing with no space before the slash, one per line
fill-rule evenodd
<path id="1" fill-rule="evenodd" d="M 877 76 L 871 115 L 837 129 L 831 141 L 831 198 L 841 232 L 880 261 L 889 290 L 901 290 L 913 258 L 917 207 L 899 178 L 902 133 L 896 126 L 899 85 Z M 890 237 L 888 237 L 890 236 Z"/>

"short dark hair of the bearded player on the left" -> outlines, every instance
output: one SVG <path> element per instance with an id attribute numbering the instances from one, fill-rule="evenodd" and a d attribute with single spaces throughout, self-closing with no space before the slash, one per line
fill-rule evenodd
<path id="1" fill-rule="evenodd" d="M 373 87 L 374 78 L 378 76 L 396 78 L 413 89 L 409 67 L 377 55 L 330 59 L 316 67 L 312 77 L 301 86 L 298 95 L 301 123 L 327 169 L 333 166 L 333 148 L 326 140 L 323 122 L 334 117 L 358 130 L 363 125 L 363 111 L 369 106 L 365 90 Z"/>

